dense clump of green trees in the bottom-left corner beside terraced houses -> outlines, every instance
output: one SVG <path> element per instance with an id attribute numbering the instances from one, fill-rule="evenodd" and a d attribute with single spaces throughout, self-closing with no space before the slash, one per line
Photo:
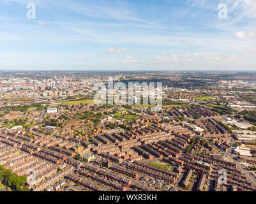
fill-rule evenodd
<path id="1" fill-rule="evenodd" d="M 3 165 L 0 166 L 0 181 L 14 191 L 30 191 L 29 187 L 25 186 L 27 177 L 19 177 L 12 170 L 6 170 Z"/>

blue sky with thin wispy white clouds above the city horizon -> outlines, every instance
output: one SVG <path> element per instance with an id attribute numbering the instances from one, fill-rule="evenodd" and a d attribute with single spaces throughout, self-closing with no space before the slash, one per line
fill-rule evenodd
<path id="1" fill-rule="evenodd" d="M 1 70 L 256 71 L 256 1 L 0 0 L 0 45 Z"/>

